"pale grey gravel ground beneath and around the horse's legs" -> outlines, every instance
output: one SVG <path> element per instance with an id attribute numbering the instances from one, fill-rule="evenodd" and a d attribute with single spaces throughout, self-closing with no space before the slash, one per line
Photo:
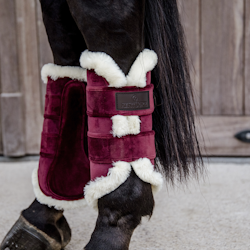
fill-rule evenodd
<path id="1" fill-rule="evenodd" d="M 0 163 L 0 241 L 34 199 L 31 172 L 37 162 Z M 130 249 L 250 250 L 250 164 L 211 163 L 205 181 L 163 188 L 152 218 L 143 219 Z M 82 250 L 97 213 L 65 211 L 72 228 L 66 250 Z"/>

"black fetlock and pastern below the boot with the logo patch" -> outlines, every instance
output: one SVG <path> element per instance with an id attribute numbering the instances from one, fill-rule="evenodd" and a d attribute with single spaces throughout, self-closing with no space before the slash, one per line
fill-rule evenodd
<path id="1" fill-rule="evenodd" d="M 142 216 L 151 216 L 154 198 L 151 185 L 134 171 L 115 191 L 98 201 L 98 218 L 86 250 L 127 250 Z"/>

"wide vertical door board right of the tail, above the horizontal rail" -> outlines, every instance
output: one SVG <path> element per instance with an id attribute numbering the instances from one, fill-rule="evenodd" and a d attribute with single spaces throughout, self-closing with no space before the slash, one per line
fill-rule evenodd
<path id="1" fill-rule="evenodd" d="M 243 114 L 243 0 L 201 1 L 202 114 Z"/>

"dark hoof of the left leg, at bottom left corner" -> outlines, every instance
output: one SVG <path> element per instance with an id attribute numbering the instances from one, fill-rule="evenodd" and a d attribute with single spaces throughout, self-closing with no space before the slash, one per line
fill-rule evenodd
<path id="1" fill-rule="evenodd" d="M 61 250 L 62 245 L 31 225 L 22 215 L 4 238 L 0 250 Z"/>

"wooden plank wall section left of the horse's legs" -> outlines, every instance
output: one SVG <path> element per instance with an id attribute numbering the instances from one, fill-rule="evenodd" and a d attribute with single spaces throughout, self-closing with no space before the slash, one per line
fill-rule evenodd
<path id="1" fill-rule="evenodd" d="M 0 0 L 0 153 L 38 154 L 45 86 L 51 62 L 39 1 Z"/>

